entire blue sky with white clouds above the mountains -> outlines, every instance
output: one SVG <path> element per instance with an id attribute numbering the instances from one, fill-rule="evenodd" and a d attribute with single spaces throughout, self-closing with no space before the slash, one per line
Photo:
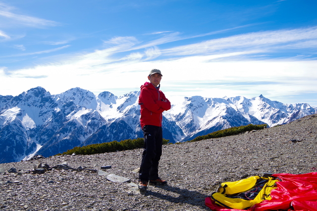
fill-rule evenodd
<path id="1" fill-rule="evenodd" d="M 157 68 L 170 99 L 317 106 L 316 10 L 316 0 L 0 0 L 0 95 L 120 96 Z"/>

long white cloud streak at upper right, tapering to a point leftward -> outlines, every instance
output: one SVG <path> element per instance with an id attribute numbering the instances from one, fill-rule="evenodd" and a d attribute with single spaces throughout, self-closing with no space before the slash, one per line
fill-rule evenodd
<path id="1" fill-rule="evenodd" d="M 221 52 L 223 50 L 231 52 L 237 49 L 249 50 L 251 48 L 267 51 L 269 48 L 277 46 L 280 49 L 287 49 L 289 46 L 306 48 L 307 44 L 305 43 L 308 41 L 312 43 L 317 41 L 317 27 L 235 35 L 164 49 L 162 53 L 168 55 L 193 55 Z"/>

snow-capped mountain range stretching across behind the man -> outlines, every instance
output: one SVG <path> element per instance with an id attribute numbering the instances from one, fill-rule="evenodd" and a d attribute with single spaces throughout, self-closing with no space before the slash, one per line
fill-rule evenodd
<path id="1" fill-rule="evenodd" d="M 93 143 L 143 137 L 140 107 L 134 91 L 123 96 L 98 96 L 81 88 L 51 95 L 42 87 L 18 96 L 0 95 L 0 163 L 35 154 L 52 156 Z M 247 99 L 185 97 L 163 113 L 163 138 L 191 140 L 219 129 L 248 124 L 286 124 L 317 108 L 306 103 L 283 104 L 263 95 Z"/>

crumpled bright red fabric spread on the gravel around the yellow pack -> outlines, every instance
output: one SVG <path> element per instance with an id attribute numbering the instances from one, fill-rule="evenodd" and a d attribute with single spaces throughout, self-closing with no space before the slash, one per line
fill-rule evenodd
<path id="1" fill-rule="evenodd" d="M 276 189 L 271 191 L 271 200 L 264 200 L 248 211 L 317 211 L 317 172 L 306 174 L 277 173 Z M 212 211 L 245 211 L 227 209 L 207 197 L 206 206 Z"/>

